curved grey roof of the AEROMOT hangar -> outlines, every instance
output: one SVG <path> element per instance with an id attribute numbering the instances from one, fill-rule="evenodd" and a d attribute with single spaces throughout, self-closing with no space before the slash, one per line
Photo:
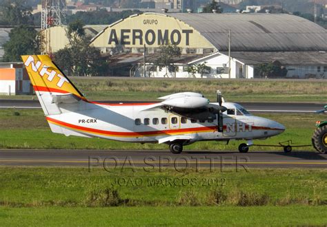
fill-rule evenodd
<path id="1" fill-rule="evenodd" d="M 167 13 L 199 31 L 219 51 L 327 51 L 327 30 L 290 14 Z"/>

